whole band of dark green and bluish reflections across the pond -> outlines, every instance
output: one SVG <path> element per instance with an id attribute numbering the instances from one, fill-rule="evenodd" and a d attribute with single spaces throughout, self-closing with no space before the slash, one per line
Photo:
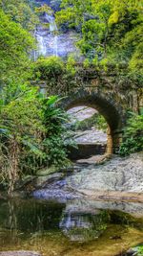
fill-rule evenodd
<path id="1" fill-rule="evenodd" d="M 89 204 L 84 207 L 80 202 L 70 202 L 66 206 L 32 199 L 0 201 L 0 231 L 4 231 L 0 233 L 0 246 L 9 241 L 10 244 L 20 244 L 24 238 L 31 244 L 38 244 L 39 235 L 45 231 L 53 234 L 59 227 L 71 241 L 86 242 L 98 238 L 109 223 L 123 225 L 124 228 L 132 225 L 138 229 L 142 224 L 120 211 L 90 210 L 89 207 Z"/>

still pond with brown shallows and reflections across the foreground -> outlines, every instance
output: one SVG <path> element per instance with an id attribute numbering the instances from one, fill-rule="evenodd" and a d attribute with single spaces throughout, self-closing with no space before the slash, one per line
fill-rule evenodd
<path id="1" fill-rule="evenodd" d="M 121 255 L 130 246 L 143 243 L 142 209 L 142 204 L 129 202 L 1 199 L 0 251 L 33 250 L 42 256 Z"/>

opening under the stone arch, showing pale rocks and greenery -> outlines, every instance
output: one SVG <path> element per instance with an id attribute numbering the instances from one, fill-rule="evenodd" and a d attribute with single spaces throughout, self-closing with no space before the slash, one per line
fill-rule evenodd
<path id="1" fill-rule="evenodd" d="M 77 148 L 70 148 L 70 158 L 80 162 L 94 162 L 107 149 L 108 125 L 103 116 L 92 107 L 82 105 L 68 110 L 72 137 Z"/>

